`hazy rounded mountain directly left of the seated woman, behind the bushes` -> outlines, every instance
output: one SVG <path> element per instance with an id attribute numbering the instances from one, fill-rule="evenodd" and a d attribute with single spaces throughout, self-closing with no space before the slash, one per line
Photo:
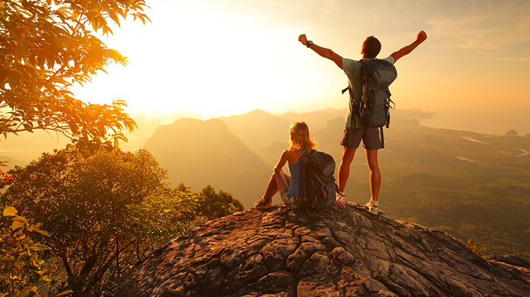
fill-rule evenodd
<path id="1" fill-rule="evenodd" d="M 161 167 L 169 170 L 176 187 L 183 182 L 197 192 L 211 184 L 225 190 L 248 207 L 268 181 L 271 168 L 228 131 L 219 119 L 179 119 L 160 126 L 145 148 Z M 257 197 L 257 196 L 256 196 Z"/>

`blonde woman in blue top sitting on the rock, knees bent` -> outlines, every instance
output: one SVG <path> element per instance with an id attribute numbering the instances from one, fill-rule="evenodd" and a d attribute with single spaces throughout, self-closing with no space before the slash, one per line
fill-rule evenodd
<path id="1" fill-rule="evenodd" d="M 274 173 L 267 184 L 264 195 L 254 202 L 254 207 L 271 207 L 272 197 L 279 191 L 283 202 L 291 210 L 299 210 L 300 208 L 306 207 L 311 208 L 311 205 L 306 205 L 307 202 L 304 198 L 303 174 L 305 162 L 302 157 L 310 154 L 316 147 L 317 145 L 310 138 L 307 124 L 302 121 L 293 123 L 289 128 L 289 147 L 282 152 L 278 164 L 274 167 Z M 291 176 L 285 174 L 282 170 L 285 162 L 289 164 Z M 333 183 L 334 181 L 331 182 Z M 331 207 L 334 204 L 334 200 L 330 201 L 331 204 L 328 207 L 323 207 L 322 209 Z"/>

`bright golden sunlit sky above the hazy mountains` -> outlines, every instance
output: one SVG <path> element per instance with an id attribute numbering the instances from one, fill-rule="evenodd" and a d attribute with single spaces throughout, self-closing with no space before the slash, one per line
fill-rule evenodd
<path id="1" fill-rule="evenodd" d="M 530 1 L 146 0 L 153 23 L 132 18 L 102 40 L 129 65 L 75 87 L 86 102 L 124 99 L 129 112 L 228 116 L 344 108 L 346 75 L 298 35 L 360 59 L 368 35 L 379 57 L 428 40 L 396 63 L 399 109 L 526 119 L 530 110 Z M 523 113 L 524 111 L 524 113 Z M 496 119 L 496 118 L 492 118 Z"/>

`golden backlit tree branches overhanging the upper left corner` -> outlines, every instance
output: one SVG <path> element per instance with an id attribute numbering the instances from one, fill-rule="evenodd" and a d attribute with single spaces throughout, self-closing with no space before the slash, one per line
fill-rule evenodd
<path id="1" fill-rule="evenodd" d="M 0 3 L 0 133 L 44 129 L 62 133 L 78 147 L 94 150 L 136 123 L 122 100 L 90 104 L 69 87 L 86 83 L 108 63 L 126 57 L 103 44 L 109 22 L 132 16 L 143 23 L 144 0 L 3 0 Z M 93 30 L 93 31 L 91 31 Z"/>

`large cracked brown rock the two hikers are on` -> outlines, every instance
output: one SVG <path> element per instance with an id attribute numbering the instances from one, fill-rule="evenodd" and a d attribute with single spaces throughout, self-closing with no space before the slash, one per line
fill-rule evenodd
<path id="1" fill-rule="evenodd" d="M 275 205 L 195 226 L 139 262 L 125 296 L 530 296 L 524 268 L 349 202 L 309 214 Z M 526 279 L 524 279 L 526 277 Z"/>

